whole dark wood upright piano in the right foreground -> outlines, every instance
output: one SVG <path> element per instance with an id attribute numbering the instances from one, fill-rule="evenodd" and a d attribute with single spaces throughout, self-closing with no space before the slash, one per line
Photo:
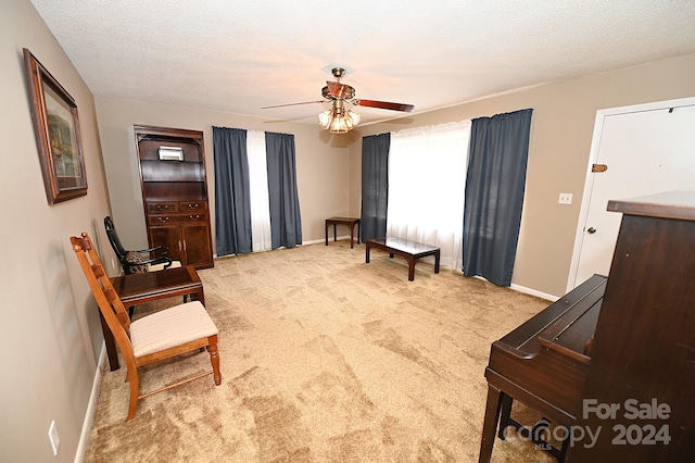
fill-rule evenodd
<path id="1" fill-rule="evenodd" d="M 500 437 L 521 427 L 510 417 L 514 400 L 596 433 L 591 445 L 544 445 L 560 461 L 695 454 L 695 191 L 607 209 L 623 214 L 608 277 L 594 275 L 492 345 L 481 462 L 497 424 Z"/>

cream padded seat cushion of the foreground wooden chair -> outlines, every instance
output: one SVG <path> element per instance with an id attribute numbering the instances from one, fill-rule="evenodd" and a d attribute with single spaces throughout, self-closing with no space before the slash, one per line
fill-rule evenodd
<path id="1" fill-rule="evenodd" d="M 136 358 L 218 334 L 200 301 L 187 302 L 138 318 L 130 324 Z"/>

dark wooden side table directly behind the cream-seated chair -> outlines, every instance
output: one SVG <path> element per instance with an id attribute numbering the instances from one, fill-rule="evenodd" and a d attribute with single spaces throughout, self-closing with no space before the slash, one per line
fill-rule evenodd
<path id="1" fill-rule="evenodd" d="M 125 306 L 142 304 L 156 299 L 174 296 L 190 296 L 205 305 L 203 284 L 191 265 L 179 268 L 166 268 L 157 272 L 136 273 L 111 278 L 114 289 Z M 101 311 L 99 312 L 101 316 Z M 118 352 L 113 334 L 101 317 L 101 328 L 106 341 L 106 353 L 111 371 L 119 368 Z"/>

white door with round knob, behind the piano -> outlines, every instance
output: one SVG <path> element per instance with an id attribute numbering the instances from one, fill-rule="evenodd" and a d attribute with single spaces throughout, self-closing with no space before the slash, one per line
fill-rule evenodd
<path id="1" fill-rule="evenodd" d="M 607 170 L 587 174 L 568 289 L 610 271 L 622 214 L 607 212 L 608 200 L 695 190 L 695 101 L 664 103 L 597 115 L 592 164 Z"/>

